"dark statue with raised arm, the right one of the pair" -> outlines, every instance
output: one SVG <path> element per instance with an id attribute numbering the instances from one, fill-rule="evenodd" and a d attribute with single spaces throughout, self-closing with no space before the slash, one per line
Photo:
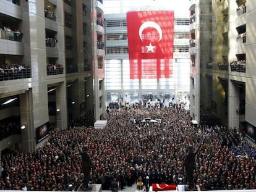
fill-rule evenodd
<path id="1" fill-rule="evenodd" d="M 184 159 L 183 167 L 185 168 L 187 182 L 189 183 L 189 190 L 194 190 L 195 183 L 193 180 L 193 173 L 195 170 L 195 156 L 202 146 L 202 141 L 197 145 L 197 148 L 194 150 L 193 146 L 189 145 L 188 153 Z"/>

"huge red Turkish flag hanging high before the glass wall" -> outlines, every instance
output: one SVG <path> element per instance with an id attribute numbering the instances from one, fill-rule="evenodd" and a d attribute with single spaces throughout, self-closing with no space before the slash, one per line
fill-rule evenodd
<path id="1" fill-rule="evenodd" d="M 173 73 L 174 12 L 127 12 L 130 78 L 169 78 Z"/>

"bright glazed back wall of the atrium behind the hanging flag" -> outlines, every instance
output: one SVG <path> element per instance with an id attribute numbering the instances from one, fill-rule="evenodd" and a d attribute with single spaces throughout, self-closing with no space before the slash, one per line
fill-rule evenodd
<path id="1" fill-rule="evenodd" d="M 167 10 L 167 4 L 148 2 L 147 5 L 132 4 L 126 0 L 111 4 L 105 1 L 106 19 L 106 102 L 118 99 L 142 101 L 150 98 L 163 99 L 167 103 L 189 96 L 189 14 L 174 10 L 173 77 L 130 79 L 129 50 L 126 12 L 129 10 Z M 153 6 L 157 4 L 156 6 Z M 116 7 L 115 7 L 116 6 Z M 109 10 L 108 10 L 109 8 Z M 111 10 L 110 10 L 111 8 Z"/>

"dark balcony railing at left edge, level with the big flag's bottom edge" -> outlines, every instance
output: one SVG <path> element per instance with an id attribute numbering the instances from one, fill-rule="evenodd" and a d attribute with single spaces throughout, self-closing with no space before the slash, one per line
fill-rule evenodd
<path id="1" fill-rule="evenodd" d="M 30 69 L 0 69 L 0 81 L 30 78 Z"/>

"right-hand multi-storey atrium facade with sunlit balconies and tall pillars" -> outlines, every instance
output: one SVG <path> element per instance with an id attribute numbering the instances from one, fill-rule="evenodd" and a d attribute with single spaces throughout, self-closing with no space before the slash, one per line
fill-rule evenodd
<path id="1" fill-rule="evenodd" d="M 190 1 L 190 114 L 256 126 L 254 1 Z M 255 138 L 255 136 L 252 136 Z"/>

